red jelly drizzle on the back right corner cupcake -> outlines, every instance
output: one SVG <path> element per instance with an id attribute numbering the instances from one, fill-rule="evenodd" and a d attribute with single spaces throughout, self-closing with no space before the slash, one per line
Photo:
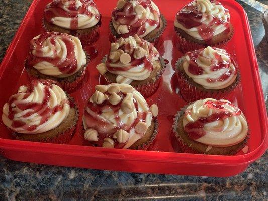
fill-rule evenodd
<path id="1" fill-rule="evenodd" d="M 215 5 L 221 5 L 218 1 L 211 0 L 212 3 L 215 3 Z M 225 13 L 228 13 L 228 10 L 225 9 Z M 198 29 L 199 35 L 202 37 L 204 41 L 209 45 L 212 43 L 210 41 L 215 33 L 214 25 L 224 25 L 226 27 L 225 32 L 229 33 L 229 23 L 230 19 L 228 18 L 226 21 L 221 20 L 220 18 L 216 18 L 212 16 L 212 21 L 209 24 L 204 24 L 201 22 L 202 16 L 205 16 L 208 18 L 207 13 L 198 12 L 197 6 L 193 5 L 193 2 L 186 5 L 184 8 L 182 8 L 176 15 L 176 20 L 182 24 L 185 28 L 191 29 L 193 27 L 196 27 Z"/>

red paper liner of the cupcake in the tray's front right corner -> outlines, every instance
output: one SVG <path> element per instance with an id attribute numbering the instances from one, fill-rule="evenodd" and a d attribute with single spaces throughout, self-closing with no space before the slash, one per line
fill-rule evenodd
<path id="1" fill-rule="evenodd" d="M 191 104 L 189 104 L 189 105 L 191 105 Z M 176 152 L 180 152 L 180 153 L 206 154 L 206 152 L 205 153 L 199 152 L 197 150 L 192 149 L 191 145 L 186 144 L 183 141 L 181 135 L 178 134 L 178 132 L 177 132 L 178 122 L 179 122 L 180 118 L 184 115 L 184 112 L 189 105 L 186 105 L 183 108 L 181 108 L 180 111 L 177 111 L 177 114 L 175 115 L 175 117 L 173 119 L 174 123 L 173 123 L 172 128 L 173 128 L 173 135 L 175 136 L 176 142 L 172 142 L 172 146 Z M 235 155 L 238 152 L 240 152 L 247 145 L 249 136 L 250 136 L 250 134 L 249 134 L 249 130 L 248 130 L 248 134 L 247 134 L 246 138 L 243 140 L 243 143 L 241 144 L 241 146 L 238 149 L 232 151 L 231 153 L 229 153 L 227 155 Z"/>

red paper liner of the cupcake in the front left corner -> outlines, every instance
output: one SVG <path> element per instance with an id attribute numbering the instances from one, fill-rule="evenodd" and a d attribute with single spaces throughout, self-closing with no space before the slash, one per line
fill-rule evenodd
<path id="1" fill-rule="evenodd" d="M 41 139 L 41 140 L 37 140 L 37 139 L 24 140 L 23 137 L 18 136 L 14 131 L 12 133 L 12 136 L 17 140 L 23 140 L 23 141 L 67 144 L 72 139 L 73 132 L 76 128 L 76 124 L 79 119 L 79 110 L 78 110 L 78 106 L 75 100 L 72 97 L 69 97 L 68 94 L 67 96 L 70 100 L 70 107 L 73 107 L 75 109 L 75 118 L 74 118 L 73 123 L 68 128 L 66 128 L 62 133 L 59 133 L 57 136 L 54 136 L 52 138 L 46 138 L 46 139 Z"/>

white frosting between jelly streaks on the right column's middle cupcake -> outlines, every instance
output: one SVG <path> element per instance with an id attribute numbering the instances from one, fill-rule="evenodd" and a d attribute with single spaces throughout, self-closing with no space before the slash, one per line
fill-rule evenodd
<path id="1" fill-rule="evenodd" d="M 194 82 L 202 85 L 206 89 L 219 90 L 227 88 L 235 81 L 237 77 L 236 67 L 235 64 L 232 63 L 233 61 L 230 59 L 230 55 L 225 50 L 208 46 L 200 53 L 199 51 L 200 50 L 196 50 L 198 56 L 193 62 L 203 70 L 203 73 L 200 75 L 195 75 L 189 72 L 190 55 L 194 54 L 195 51 L 193 53 L 187 53 L 183 57 L 184 71 Z M 220 63 L 216 56 L 220 56 L 224 64 L 229 63 L 229 67 L 212 70 L 214 66 Z M 225 80 L 220 79 L 224 74 L 228 74 L 229 77 Z M 215 81 L 211 82 L 208 80 Z"/>

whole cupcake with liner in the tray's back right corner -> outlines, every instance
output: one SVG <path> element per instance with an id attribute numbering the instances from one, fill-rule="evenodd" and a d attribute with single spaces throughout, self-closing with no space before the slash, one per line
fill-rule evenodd
<path id="1" fill-rule="evenodd" d="M 174 26 L 184 53 L 208 45 L 224 48 L 234 33 L 229 11 L 214 0 L 195 0 L 186 5 L 176 14 Z"/>

